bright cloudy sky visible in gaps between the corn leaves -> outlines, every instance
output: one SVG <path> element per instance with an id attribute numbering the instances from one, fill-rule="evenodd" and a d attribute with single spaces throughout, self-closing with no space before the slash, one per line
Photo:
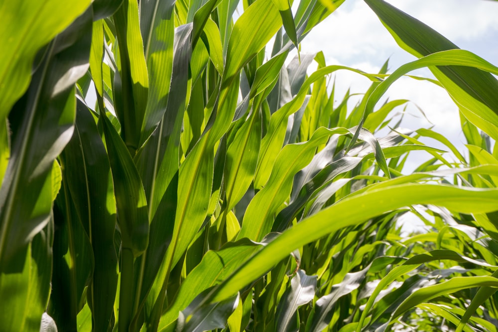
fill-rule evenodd
<path id="1" fill-rule="evenodd" d="M 498 65 L 498 1 L 388 0 L 387 2 L 428 24 L 460 48 L 472 51 L 492 64 Z M 327 65 L 344 65 L 369 73 L 378 72 L 387 59 L 389 59 L 389 73 L 402 64 L 416 59 L 395 43 L 363 0 L 346 0 L 302 41 L 301 52 L 319 51 L 323 51 Z M 433 77 L 428 69 L 411 74 Z M 340 99 L 348 88 L 351 88 L 351 93 L 364 93 L 371 84 L 363 76 L 348 71 L 338 72 L 335 79 L 337 96 L 341 96 Z M 444 134 L 464 153 L 464 156 L 467 156 L 458 109 L 442 88 L 426 81 L 402 78 L 389 88 L 385 97 L 389 97 L 389 100 L 408 99 L 412 102 L 408 107 L 408 113 L 415 116 L 405 115 L 403 127 L 418 129 L 429 127 L 432 123 L 433 130 Z M 353 104 L 351 106 L 354 106 L 356 102 L 352 100 L 351 103 Z M 414 104 L 424 111 L 431 123 L 421 116 Z M 427 145 L 445 149 L 433 140 L 421 140 Z M 412 153 L 405 174 L 429 157 L 422 151 Z M 414 229 L 421 230 L 422 225 L 422 222 L 414 216 L 406 215 L 403 218 L 405 234 Z"/>

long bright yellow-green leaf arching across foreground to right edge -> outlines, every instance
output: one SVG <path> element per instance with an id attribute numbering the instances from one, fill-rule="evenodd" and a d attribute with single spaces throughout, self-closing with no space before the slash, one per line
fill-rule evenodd
<path id="1" fill-rule="evenodd" d="M 433 204 L 462 213 L 482 213 L 496 210 L 497 203 L 496 189 L 469 190 L 421 184 L 391 186 L 345 198 L 276 237 L 214 289 L 210 300 L 217 302 L 233 296 L 301 245 L 343 227 L 363 223 L 385 211 L 412 204 Z"/>

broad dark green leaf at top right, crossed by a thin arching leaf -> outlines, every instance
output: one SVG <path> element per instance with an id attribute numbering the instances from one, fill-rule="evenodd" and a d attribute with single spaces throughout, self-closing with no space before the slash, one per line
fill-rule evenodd
<path id="1" fill-rule="evenodd" d="M 365 0 L 365 2 L 377 14 L 398 45 L 419 58 L 431 53 L 458 48 L 429 26 L 382 0 Z M 469 58 L 471 56 L 477 57 L 473 54 L 468 55 Z M 496 139 L 498 137 L 496 125 L 498 123 L 496 95 L 498 81 L 491 75 L 493 70 L 479 66 L 473 66 L 476 68 L 461 67 L 469 65 L 459 59 L 447 60 L 433 64 L 440 66 L 430 68 L 434 76 L 448 91 L 465 117 Z"/>

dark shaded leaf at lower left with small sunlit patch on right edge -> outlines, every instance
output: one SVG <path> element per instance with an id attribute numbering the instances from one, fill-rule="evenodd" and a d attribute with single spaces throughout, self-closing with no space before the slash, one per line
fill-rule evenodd
<path id="1" fill-rule="evenodd" d="M 114 242 L 116 229 L 116 199 L 109 158 L 95 119 L 80 100 L 76 111 L 75 132 L 61 158 L 79 222 L 93 248 L 95 270 L 87 295 L 94 328 L 105 331 L 114 315 L 118 283 L 118 257 L 114 246 L 109 245 Z"/>

